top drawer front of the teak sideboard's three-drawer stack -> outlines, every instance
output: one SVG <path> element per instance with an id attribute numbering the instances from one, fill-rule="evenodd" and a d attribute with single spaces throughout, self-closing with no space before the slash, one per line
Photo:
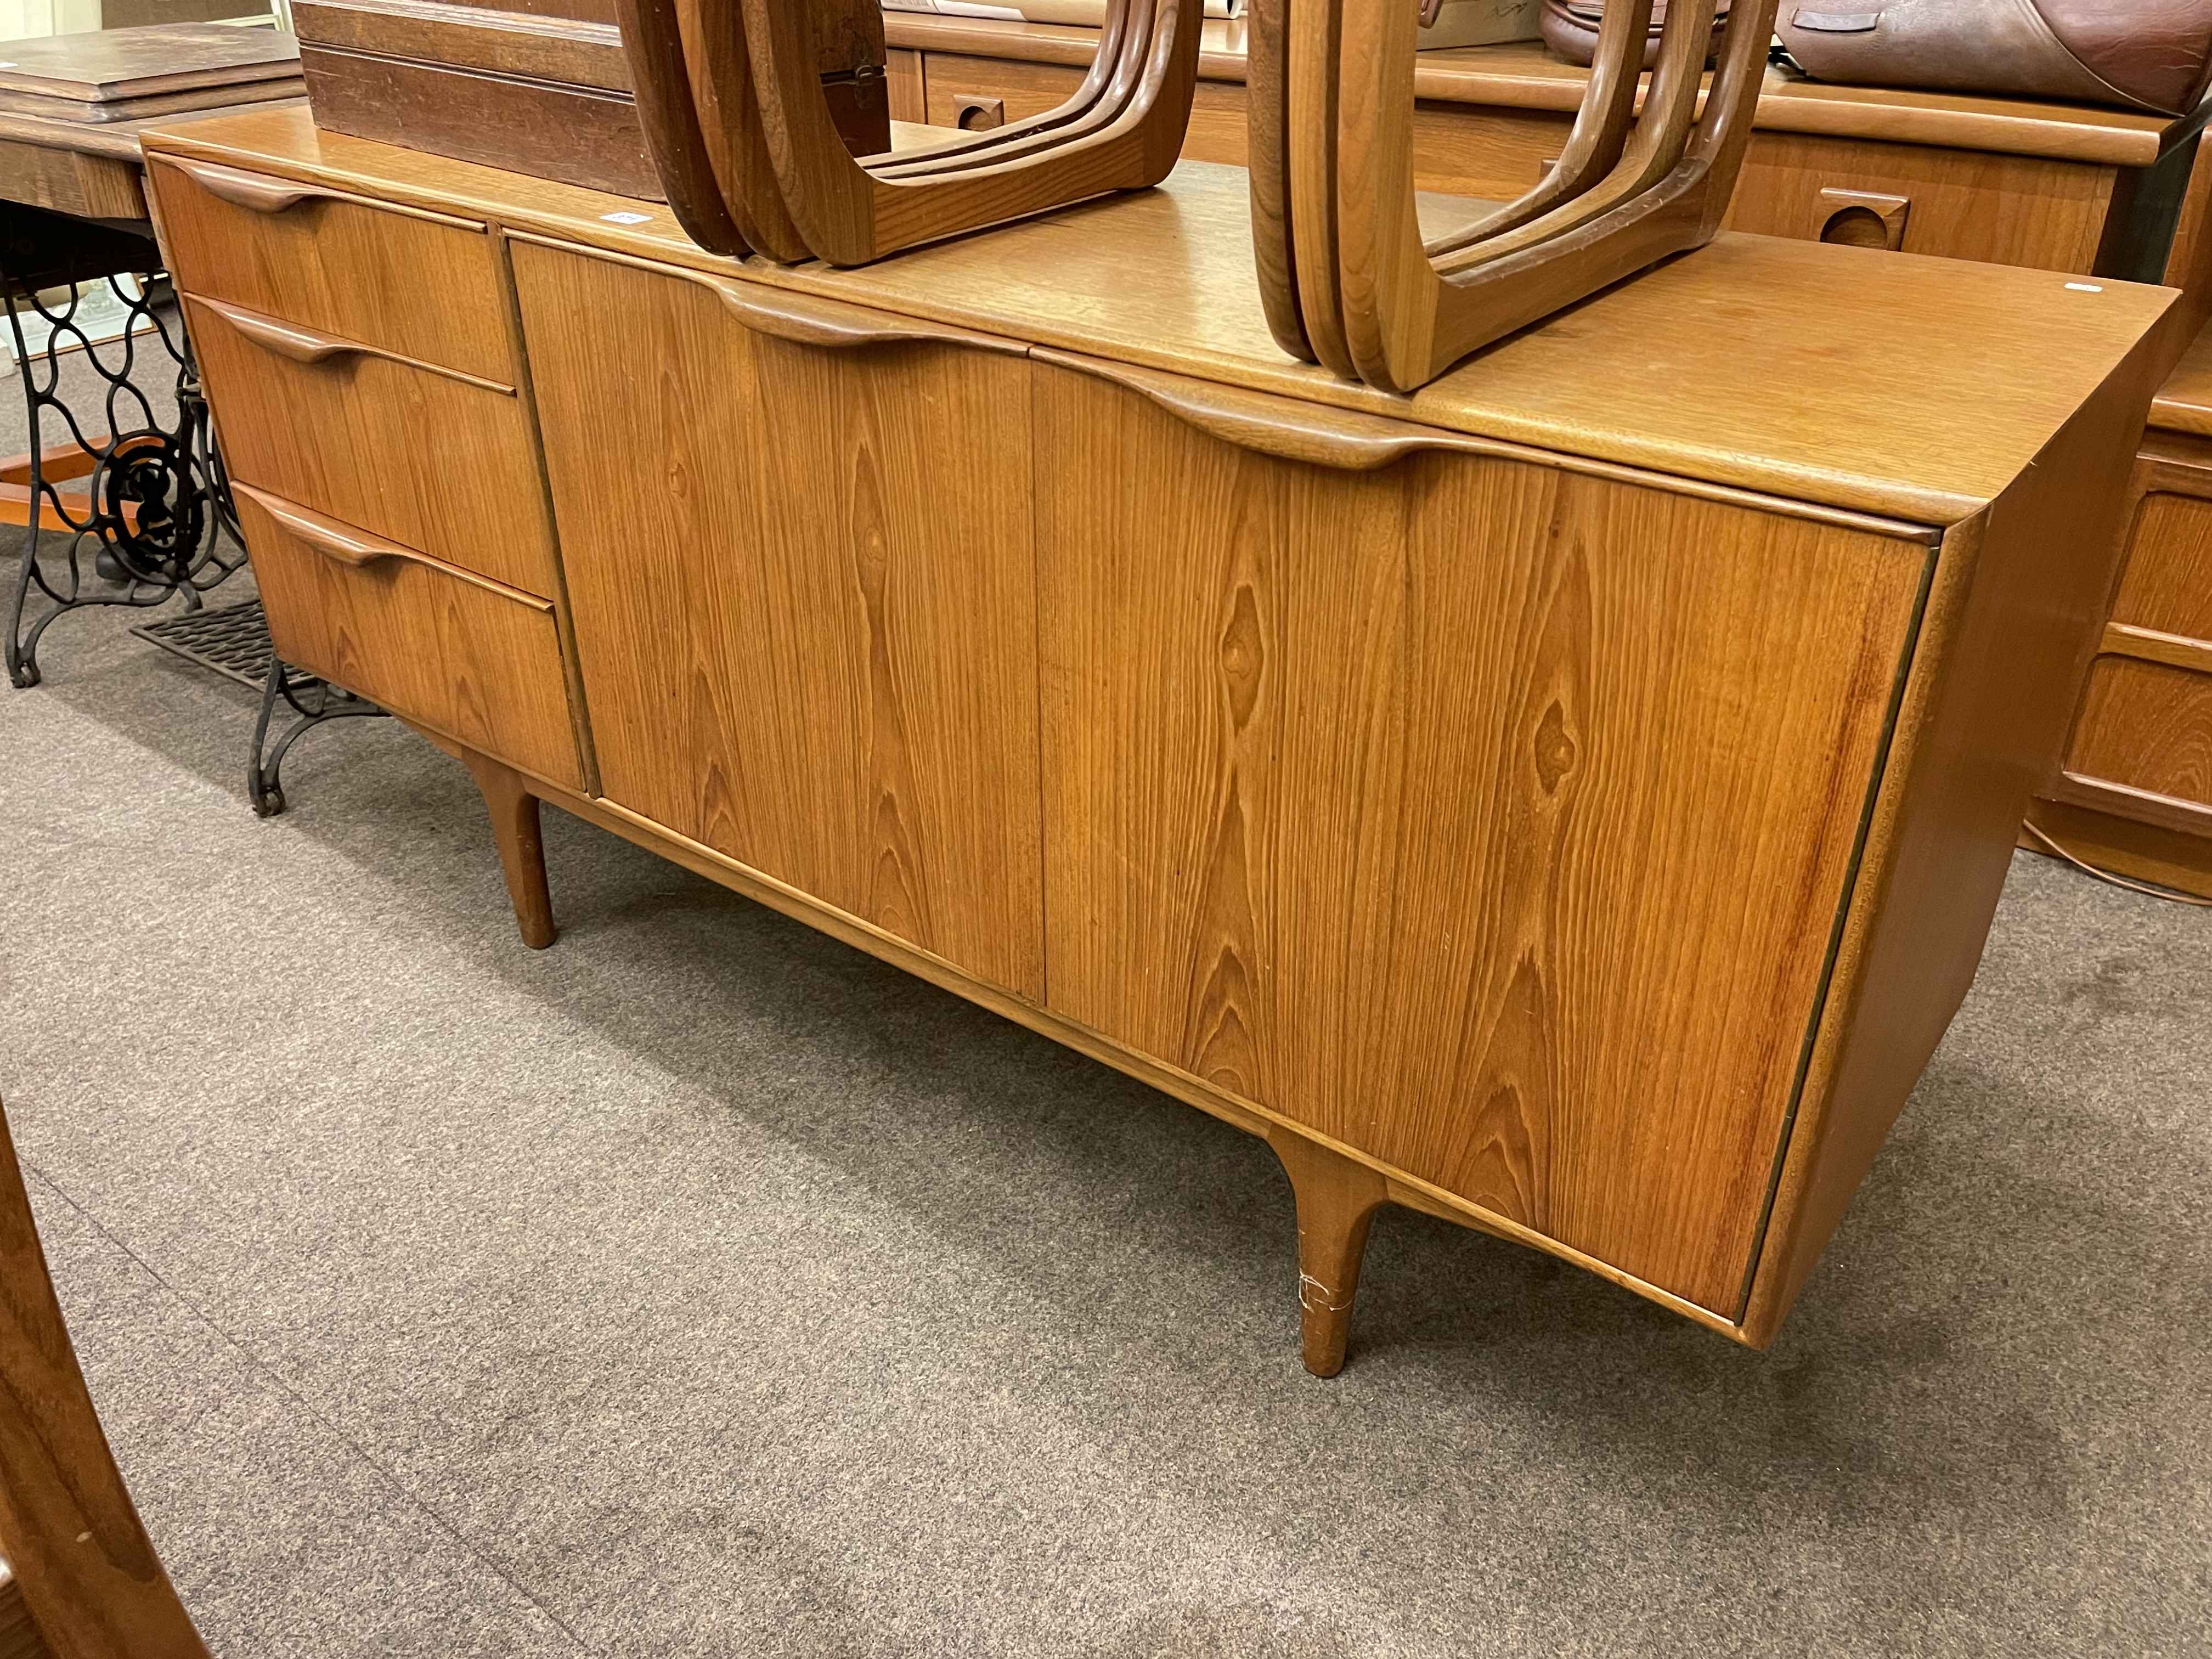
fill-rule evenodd
<path id="1" fill-rule="evenodd" d="M 480 223 L 208 161 L 155 157 L 148 179 L 179 288 L 513 383 L 507 305 Z"/>

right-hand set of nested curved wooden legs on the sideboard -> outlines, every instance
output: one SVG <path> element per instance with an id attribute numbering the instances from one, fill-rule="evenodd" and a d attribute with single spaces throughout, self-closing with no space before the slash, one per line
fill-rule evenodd
<path id="1" fill-rule="evenodd" d="M 1703 246 L 1734 192 L 1776 0 L 1739 4 L 1699 93 L 1714 0 L 1670 7 L 1637 113 L 1650 2 L 1608 7 L 1553 173 L 1425 241 L 1413 192 L 1413 49 L 1402 0 L 1265 0 L 1252 13 L 1252 239 L 1276 343 L 1385 392 L 1668 254 Z"/>

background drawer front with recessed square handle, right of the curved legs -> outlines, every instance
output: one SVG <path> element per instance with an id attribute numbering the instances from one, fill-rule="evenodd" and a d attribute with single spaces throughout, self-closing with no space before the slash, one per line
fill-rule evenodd
<path id="1" fill-rule="evenodd" d="M 2115 177 L 2093 161 L 1756 133 L 1728 226 L 2084 272 Z"/>

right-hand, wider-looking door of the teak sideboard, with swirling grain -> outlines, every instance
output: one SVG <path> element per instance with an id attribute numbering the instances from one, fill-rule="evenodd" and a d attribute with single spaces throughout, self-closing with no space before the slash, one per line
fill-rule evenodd
<path id="1" fill-rule="evenodd" d="M 1051 1006 L 1741 1296 L 1927 546 L 1037 367 Z M 1652 872 L 1668 872 L 1655 878 Z"/>

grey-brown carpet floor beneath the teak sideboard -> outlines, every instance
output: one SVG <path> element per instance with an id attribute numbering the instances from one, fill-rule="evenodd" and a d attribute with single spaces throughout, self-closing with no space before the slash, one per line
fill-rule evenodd
<path id="1" fill-rule="evenodd" d="M 1772 1354 L 106 615 L 0 690 L 0 1093 L 219 1655 L 2192 1655 L 2212 916 L 2033 856 Z"/>

